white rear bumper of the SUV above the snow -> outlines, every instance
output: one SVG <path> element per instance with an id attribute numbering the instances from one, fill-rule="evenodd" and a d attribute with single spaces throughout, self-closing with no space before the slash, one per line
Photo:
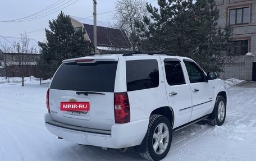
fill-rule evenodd
<path id="1" fill-rule="evenodd" d="M 88 129 L 56 122 L 50 113 L 44 115 L 45 126 L 56 136 L 83 145 L 105 148 L 126 148 L 141 143 L 148 130 L 149 119 L 141 119 L 124 124 L 115 124 L 111 131 Z"/>

